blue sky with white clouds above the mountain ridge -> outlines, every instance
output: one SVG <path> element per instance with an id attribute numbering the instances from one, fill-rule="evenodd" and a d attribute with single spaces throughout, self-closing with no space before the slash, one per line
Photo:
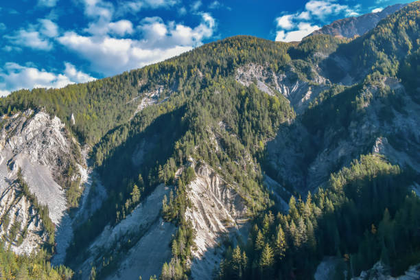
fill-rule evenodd
<path id="1" fill-rule="evenodd" d="M 234 35 L 301 40 L 398 0 L 14 0 L 0 4 L 0 95 L 116 75 Z"/>

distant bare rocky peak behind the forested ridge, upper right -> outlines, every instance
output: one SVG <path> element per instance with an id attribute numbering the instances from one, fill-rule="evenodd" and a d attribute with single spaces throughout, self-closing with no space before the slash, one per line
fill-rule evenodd
<path id="1" fill-rule="evenodd" d="M 401 10 L 405 4 L 390 5 L 380 12 L 371 12 L 362 14 L 361 16 L 351 16 L 346 19 L 339 19 L 329 25 L 323 26 L 320 30 L 312 32 L 309 36 L 317 34 L 328 34 L 342 38 L 353 38 L 354 36 L 362 36 L 369 30 L 373 29 L 377 23 L 386 16 Z"/>

